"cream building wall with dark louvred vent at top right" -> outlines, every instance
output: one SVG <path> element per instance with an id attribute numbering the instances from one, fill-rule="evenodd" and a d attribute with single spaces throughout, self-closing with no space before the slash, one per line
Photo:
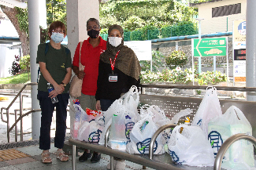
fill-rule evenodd
<path id="1" fill-rule="evenodd" d="M 241 3 L 241 13 L 212 18 L 212 8 L 237 3 Z M 204 18 L 201 22 L 202 34 L 232 31 L 234 20 L 246 20 L 246 10 L 247 0 L 224 0 L 198 5 L 198 18 Z"/>

